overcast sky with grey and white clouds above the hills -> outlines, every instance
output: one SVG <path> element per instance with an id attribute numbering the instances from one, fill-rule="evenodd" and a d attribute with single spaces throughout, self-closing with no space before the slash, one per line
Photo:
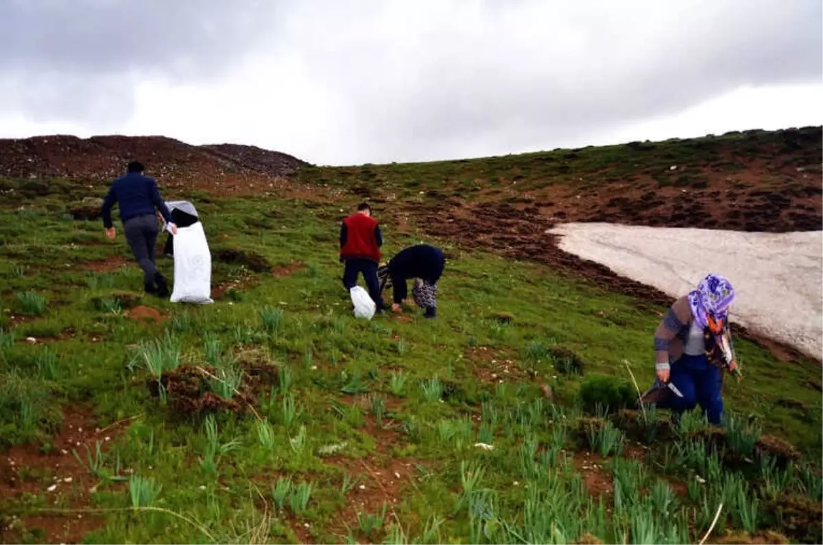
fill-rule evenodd
<path id="1" fill-rule="evenodd" d="M 317 164 L 823 124 L 823 0 L 0 0 L 0 137 Z"/>

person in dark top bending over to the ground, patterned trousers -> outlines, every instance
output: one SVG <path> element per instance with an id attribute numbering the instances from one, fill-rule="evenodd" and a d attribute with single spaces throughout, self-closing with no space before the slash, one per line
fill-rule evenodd
<path id="1" fill-rule="evenodd" d="M 380 291 L 393 287 L 392 310 L 401 312 L 402 302 L 408 295 L 406 281 L 414 278 L 412 297 L 415 304 L 425 309 L 425 318 L 437 316 L 437 282 L 443 275 L 445 259 L 443 252 L 432 245 L 414 245 L 403 249 L 389 262 L 380 267 Z"/>

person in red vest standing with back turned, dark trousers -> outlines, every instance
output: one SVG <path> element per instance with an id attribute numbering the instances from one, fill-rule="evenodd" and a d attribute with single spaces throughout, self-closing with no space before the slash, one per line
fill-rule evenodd
<path id="1" fill-rule="evenodd" d="M 346 217 L 340 226 L 340 260 L 346 263 L 343 286 L 351 290 L 357 285 L 357 275 L 362 273 L 378 312 L 385 310 L 377 279 L 382 245 L 383 235 L 377 220 L 371 217 L 371 207 L 368 203 L 357 205 L 357 212 Z"/>

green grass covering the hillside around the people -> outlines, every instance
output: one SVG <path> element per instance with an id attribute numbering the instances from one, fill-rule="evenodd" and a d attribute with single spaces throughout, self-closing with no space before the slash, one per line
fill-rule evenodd
<path id="1" fill-rule="evenodd" d="M 677 159 L 665 156 L 667 144 L 655 149 L 661 165 Z M 562 161 L 605 168 L 650 152 L 584 149 L 565 160 L 557 151 L 533 162 L 501 157 L 303 175 L 330 184 L 335 176 L 348 187 L 369 178 L 368 170 L 375 184 L 407 193 L 401 207 L 449 176 L 473 187 L 491 166 L 497 179 L 509 169 L 538 180 L 562 170 Z M 665 435 L 656 422 L 667 415 L 658 411 L 646 416 L 641 435 L 649 450 L 638 460 L 619 421 L 579 431 L 581 418 L 609 418 L 633 403 L 624 361 L 641 388 L 653 380 L 659 316 L 635 300 L 443 240 L 454 259 L 441 281 L 438 319 L 409 310 L 409 321 L 357 320 L 335 251 L 340 205 L 258 198 L 196 203 L 213 255 L 240 249 L 254 257 L 248 263 L 296 259 L 305 268 L 274 277 L 215 259 L 212 283 L 236 287 L 214 305 L 140 300 L 136 266 L 82 268 L 128 257 L 122 237 L 110 243 L 98 223 L 69 221 L 59 208 L 67 195 L 37 191 L 45 193 L 26 204 L 26 215 L 0 212 L 0 445 L 49 450 L 72 405 L 93 407 L 100 427 L 126 421 L 105 444 L 77 448 L 85 468 L 78 478 L 95 488 L 85 504 L 64 496 L 59 505 L 109 510 L 85 543 L 211 543 L 210 536 L 298 543 L 305 535 L 319 543 L 573 543 L 584 533 L 605 543 L 623 543 L 627 533 L 630 543 L 696 543 L 720 501 L 728 505 L 723 529 L 797 533 L 770 502 L 821 499 L 821 394 L 808 381 L 823 382 L 823 372 L 814 362 L 789 365 L 738 341 L 746 378 L 725 386 L 735 414 L 728 448 L 712 450 L 704 436 L 686 432 Z M 21 226 L 34 221 L 43 227 Z M 387 255 L 417 240 L 395 227 L 386 213 Z M 171 276 L 172 263 L 159 263 Z M 16 311 L 23 305 L 17 294 L 35 292 L 48 305 L 12 321 L 5 309 Z M 128 319 L 123 310 L 137 304 L 168 319 Z M 611 319 L 598 318 L 606 309 Z M 52 341 L 30 346 L 30 336 Z M 160 381 L 182 366 L 208 366 L 214 375 L 203 388 L 236 400 L 250 361 L 277 369 L 271 384 L 253 392 L 253 412 L 179 412 Z M 500 370 L 504 361 L 509 373 Z M 543 398 L 543 382 L 552 400 Z M 151 393 L 158 383 L 160 396 Z M 687 421 L 695 432 L 704 427 Z M 760 458 L 753 445 L 761 434 L 792 441 L 803 458 L 791 469 Z M 573 461 L 592 450 L 606 458 L 602 473 L 614 485 L 603 499 L 589 494 Z M 746 458 L 751 463 L 735 461 Z M 707 482 L 694 485 L 696 477 Z M 667 482 L 688 483 L 688 493 Z M 53 506 L 45 492 L 0 501 L 0 511 L 24 523 Z"/>

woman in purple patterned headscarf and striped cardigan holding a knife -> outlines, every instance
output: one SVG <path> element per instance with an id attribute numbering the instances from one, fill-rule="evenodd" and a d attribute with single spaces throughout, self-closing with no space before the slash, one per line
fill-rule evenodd
<path id="1" fill-rule="evenodd" d="M 700 404 L 709 422 L 720 425 L 723 371 L 737 373 L 728 328 L 734 295 L 726 277 L 709 274 L 672 304 L 654 333 L 657 380 L 644 401 L 669 408 L 676 417 Z M 655 401 L 663 397 L 663 403 Z"/>

